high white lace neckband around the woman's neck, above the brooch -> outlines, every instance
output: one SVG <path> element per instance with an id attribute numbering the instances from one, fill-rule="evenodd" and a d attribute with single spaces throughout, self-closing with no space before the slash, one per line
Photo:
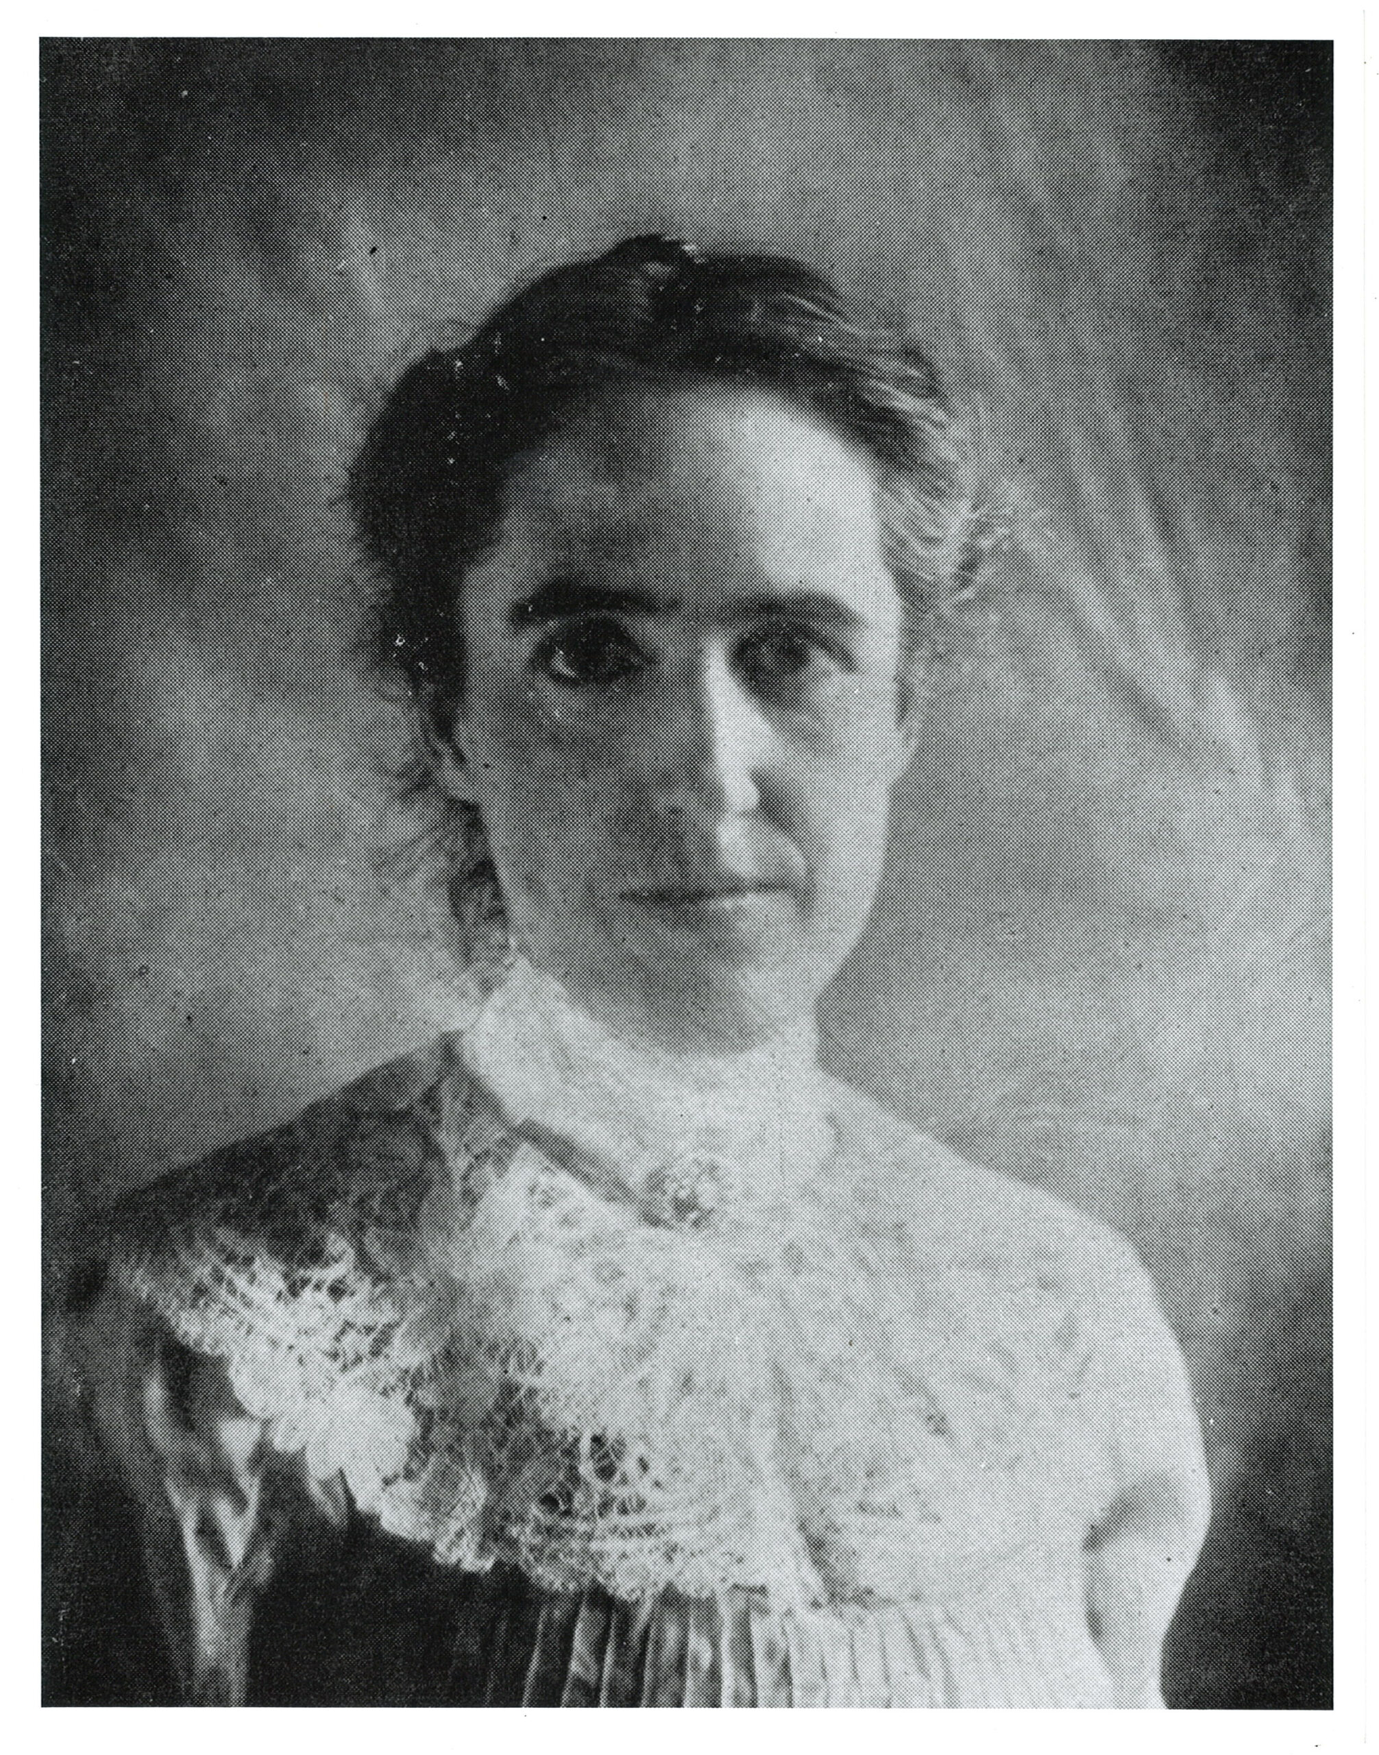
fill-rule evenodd
<path id="1" fill-rule="evenodd" d="M 509 1121 L 568 1143 L 660 1221 L 788 1193 L 833 1148 L 812 1023 L 739 1055 L 630 1044 L 519 960 L 461 1053 Z"/>

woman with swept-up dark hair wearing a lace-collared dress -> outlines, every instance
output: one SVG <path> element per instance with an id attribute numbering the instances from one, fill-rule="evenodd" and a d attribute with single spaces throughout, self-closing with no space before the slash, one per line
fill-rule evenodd
<path id="1" fill-rule="evenodd" d="M 479 999 L 86 1279 L 184 1699 L 1161 1704 L 1205 1486 L 1144 1271 L 814 1058 L 961 479 L 923 358 L 663 239 L 397 386 L 351 504 Z"/>

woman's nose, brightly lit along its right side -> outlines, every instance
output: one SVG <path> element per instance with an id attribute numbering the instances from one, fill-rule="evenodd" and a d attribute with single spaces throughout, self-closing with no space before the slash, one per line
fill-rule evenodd
<path id="1" fill-rule="evenodd" d="M 761 795 L 774 732 L 726 656 L 707 651 L 665 725 L 661 800 L 705 818 L 746 816 Z"/>

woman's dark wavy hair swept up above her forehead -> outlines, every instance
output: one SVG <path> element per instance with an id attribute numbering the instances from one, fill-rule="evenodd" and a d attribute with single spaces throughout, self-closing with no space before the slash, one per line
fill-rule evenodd
<path id="1" fill-rule="evenodd" d="M 544 274 L 404 372 L 354 463 L 349 507 L 386 579 L 375 658 L 433 713 L 463 697 L 454 591 L 497 534 L 514 467 L 619 383 L 686 379 L 770 390 L 874 462 L 911 611 L 963 570 L 968 472 L 923 353 L 865 326 L 802 263 L 630 239 Z"/>

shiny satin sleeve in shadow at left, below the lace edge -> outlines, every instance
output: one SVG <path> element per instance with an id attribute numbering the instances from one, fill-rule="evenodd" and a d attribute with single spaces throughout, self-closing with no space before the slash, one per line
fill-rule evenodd
<path id="1" fill-rule="evenodd" d="M 89 1602 L 91 1590 L 104 1595 L 95 1620 L 105 1625 L 91 1632 L 107 1653 L 119 1646 L 104 1665 L 89 1653 L 81 1660 L 86 1687 L 121 1694 L 112 1671 L 123 1671 L 130 1704 L 244 1704 L 254 1609 L 281 1534 L 261 1422 L 237 1404 L 218 1360 L 182 1348 L 109 1281 L 65 1330 L 61 1376 L 86 1455 L 61 1508 L 60 1590 L 68 1606 L 82 1594 Z M 126 1623 L 132 1608 L 135 1622 L 151 1608 L 142 1653 Z"/>

